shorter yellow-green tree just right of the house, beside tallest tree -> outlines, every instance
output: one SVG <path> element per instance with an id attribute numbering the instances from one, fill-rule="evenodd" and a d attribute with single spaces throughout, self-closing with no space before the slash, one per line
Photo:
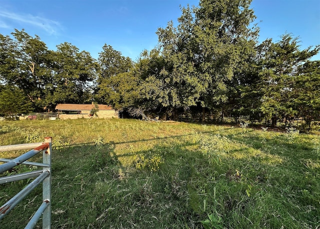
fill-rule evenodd
<path id="1" fill-rule="evenodd" d="M 158 100 L 154 92 L 157 82 L 151 81 L 149 76 L 150 72 L 154 71 L 153 67 L 158 67 L 158 63 L 155 63 L 156 52 L 151 51 L 150 53 L 152 53 L 150 55 L 152 58 L 145 51 L 130 69 L 103 78 L 98 84 L 97 100 L 119 110 L 142 112 L 156 110 L 161 100 Z M 123 70 L 125 68 L 122 68 Z"/>

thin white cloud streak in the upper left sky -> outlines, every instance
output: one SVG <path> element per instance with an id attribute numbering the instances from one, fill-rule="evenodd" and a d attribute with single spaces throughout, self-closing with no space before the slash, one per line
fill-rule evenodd
<path id="1" fill-rule="evenodd" d="M 0 27 L 7 28 L 7 23 L 5 22 L 13 21 L 21 24 L 29 24 L 38 28 L 43 29 L 49 34 L 56 34 L 57 30 L 60 28 L 60 24 L 58 22 L 41 18 L 32 15 L 19 15 L 12 12 L 0 11 Z"/>

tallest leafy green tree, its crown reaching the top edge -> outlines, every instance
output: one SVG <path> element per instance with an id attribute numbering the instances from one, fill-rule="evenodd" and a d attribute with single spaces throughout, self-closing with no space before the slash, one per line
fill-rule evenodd
<path id="1" fill-rule="evenodd" d="M 171 105 L 200 104 L 204 120 L 205 108 L 227 102 L 226 82 L 256 43 L 258 30 L 249 28 L 255 19 L 250 2 L 202 0 L 192 10 L 182 8 L 177 28 L 170 22 L 158 29 L 159 46 L 167 61 L 166 85 L 176 96 Z"/>

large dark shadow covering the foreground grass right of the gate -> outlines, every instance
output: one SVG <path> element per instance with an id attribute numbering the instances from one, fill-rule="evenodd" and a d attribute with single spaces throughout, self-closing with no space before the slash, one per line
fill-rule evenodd
<path id="1" fill-rule="evenodd" d="M 238 220 L 241 228 L 297 228 L 314 226 L 319 219 L 313 195 L 308 195 L 307 205 L 314 209 L 307 212 L 299 202 L 300 192 L 285 183 L 288 174 L 274 183 L 273 171 L 254 157 L 219 161 L 190 150 L 198 143 L 186 141 L 136 150 L 136 161 L 123 166 L 120 157 L 132 153 L 116 155 L 118 144 L 70 146 L 56 153 L 55 228 L 201 228 L 200 220 L 213 212 L 221 216 L 219 225 L 229 228 L 238 228 Z M 158 168 L 151 160 L 157 157 L 163 159 Z M 145 166 L 137 168 L 136 162 Z M 300 211 L 294 210 L 296 204 Z M 281 218 L 274 217 L 274 205 Z"/>

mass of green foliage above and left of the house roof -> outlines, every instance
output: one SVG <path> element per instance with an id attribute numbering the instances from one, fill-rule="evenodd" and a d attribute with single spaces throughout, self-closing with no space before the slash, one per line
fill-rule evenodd
<path id="1" fill-rule="evenodd" d="M 0 36 L 1 83 L 23 90 L 38 111 L 90 99 L 97 64 L 88 52 L 69 43 L 58 45 L 56 52 L 47 50 L 38 36 L 24 30 L 15 30 L 12 37 Z"/>

